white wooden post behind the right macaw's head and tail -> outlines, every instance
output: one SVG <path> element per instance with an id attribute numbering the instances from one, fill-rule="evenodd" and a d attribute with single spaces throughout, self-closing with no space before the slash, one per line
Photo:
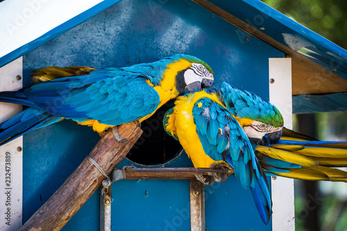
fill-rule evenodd
<path id="1" fill-rule="evenodd" d="M 269 96 L 285 120 L 285 127 L 292 128 L 291 58 L 269 58 Z M 273 200 L 272 230 L 295 230 L 294 180 L 272 178 Z"/>

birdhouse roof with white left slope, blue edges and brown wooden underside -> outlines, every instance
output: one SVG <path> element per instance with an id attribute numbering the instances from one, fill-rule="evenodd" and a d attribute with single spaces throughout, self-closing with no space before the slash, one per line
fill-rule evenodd
<path id="1" fill-rule="evenodd" d="M 1 1 L 0 67 L 119 1 Z M 294 113 L 347 109 L 346 50 L 261 1 L 196 3 L 292 59 Z"/>

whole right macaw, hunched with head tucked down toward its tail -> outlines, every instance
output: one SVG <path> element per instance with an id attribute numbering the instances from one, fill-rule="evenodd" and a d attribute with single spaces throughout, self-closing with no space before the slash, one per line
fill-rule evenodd
<path id="1" fill-rule="evenodd" d="M 251 188 L 264 223 L 271 215 L 264 174 L 347 182 L 345 171 L 331 168 L 347 166 L 347 142 L 321 142 L 283 128 L 278 109 L 251 92 L 223 83 L 219 91 L 180 96 L 175 104 L 164 117 L 165 130 L 195 167 L 231 166 Z"/>

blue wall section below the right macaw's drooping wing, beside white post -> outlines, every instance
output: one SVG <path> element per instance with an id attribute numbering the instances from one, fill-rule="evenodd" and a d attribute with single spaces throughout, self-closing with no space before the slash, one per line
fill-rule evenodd
<path id="1" fill-rule="evenodd" d="M 234 176 L 205 186 L 205 208 L 207 230 L 271 230 L 272 218 L 269 225 L 259 221 L 251 191 L 242 188 Z"/>

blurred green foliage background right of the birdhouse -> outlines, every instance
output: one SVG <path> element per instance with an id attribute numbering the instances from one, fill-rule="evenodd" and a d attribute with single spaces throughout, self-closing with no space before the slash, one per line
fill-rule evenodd
<path id="1" fill-rule="evenodd" d="M 263 0 L 264 3 L 294 19 L 299 24 L 347 48 L 346 0 Z M 347 89 L 346 89 L 347 92 Z M 321 112 L 314 114 L 316 137 L 322 140 L 347 140 L 347 113 Z M 294 117 L 294 130 L 295 130 Z M 296 230 L 347 230 L 347 184 L 320 182 L 319 200 L 305 200 L 303 182 L 296 180 Z M 314 196 L 316 196 L 314 195 Z M 308 213 L 317 213 L 318 221 L 309 221 Z M 317 223 L 319 230 L 312 228 Z"/>

